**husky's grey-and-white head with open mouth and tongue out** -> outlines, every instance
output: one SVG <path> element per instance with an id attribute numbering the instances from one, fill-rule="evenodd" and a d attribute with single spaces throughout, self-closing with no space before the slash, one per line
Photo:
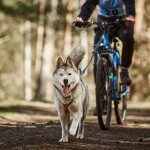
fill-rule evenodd
<path id="1" fill-rule="evenodd" d="M 54 85 L 67 97 L 80 81 L 80 72 L 70 57 L 65 62 L 58 57 L 53 77 Z"/>

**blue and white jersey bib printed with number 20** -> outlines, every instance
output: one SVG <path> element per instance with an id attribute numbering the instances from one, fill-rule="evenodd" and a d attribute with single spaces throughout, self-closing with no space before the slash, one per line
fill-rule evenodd
<path id="1" fill-rule="evenodd" d="M 98 14 L 105 17 L 124 16 L 125 5 L 122 0 L 99 0 Z"/>

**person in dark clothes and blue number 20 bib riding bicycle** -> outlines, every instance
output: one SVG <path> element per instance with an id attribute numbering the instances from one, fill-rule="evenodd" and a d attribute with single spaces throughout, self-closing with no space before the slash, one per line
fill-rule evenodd
<path id="1" fill-rule="evenodd" d="M 123 26 L 120 26 L 115 33 L 123 43 L 122 49 L 122 68 L 121 81 L 125 84 L 131 84 L 131 78 L 128 69 L 132 63 L 132 55 L 134 51 L 134 22 L 135 22 L 135 0 L 86 0 L 81 7 L 79 16 L 75 19 L 77 26 L 81 26 L 84 21 L 88 20 L 93 10 L 97 6 L 98 22 L 111 22 L 116 19 L 126 18 Z M 94 46 L 102 35 L 101 30 L 97 30 L 94 38 Z M 96 78 L 96 58 L 94 61 L 94 79 Z"/>

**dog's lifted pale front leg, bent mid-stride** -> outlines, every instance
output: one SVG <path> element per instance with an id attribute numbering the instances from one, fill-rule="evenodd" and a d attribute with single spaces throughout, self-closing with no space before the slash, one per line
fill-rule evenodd
<path id="1" fill-rule="evenodd" d="M 76 134 L 81 118 L 82 118 L 82 112 L 81 111 L 78 111 L 74 114 L 73 120 L 71 123 L 71 127 L 69 129 L 69 133 L 71 135 L 74 136 Z"/>

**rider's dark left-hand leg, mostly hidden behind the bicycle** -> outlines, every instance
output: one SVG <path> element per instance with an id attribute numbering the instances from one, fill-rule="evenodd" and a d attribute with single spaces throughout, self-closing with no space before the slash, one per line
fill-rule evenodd
<path id="1" fill-rule="evenodd" d="M 102 35 L 101 30 L 96 29 L 95 30 L 95 38 L 94 38 L 94 50 L 95 50 L 95 47 L 96 47 L 98 41 L 100 40 L 101 35 Z M 97 62 L 97 56 L 94 55 L 93 74 L 94 74 L 95 83 L 96 83 L 96 62 Z"/>

